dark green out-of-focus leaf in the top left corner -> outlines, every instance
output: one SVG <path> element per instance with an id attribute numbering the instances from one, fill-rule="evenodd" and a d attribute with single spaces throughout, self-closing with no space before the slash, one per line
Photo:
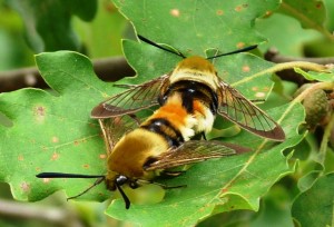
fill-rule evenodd
<path id="1" fill-rule="evenodd" d="M 96 0 L 10 0 L 9 3 L 21 14 L 26 38 L 35 52 L 80 50 L 70 19 L 78 16 L 81 20 L 90 21 L 97 10 Z"/>

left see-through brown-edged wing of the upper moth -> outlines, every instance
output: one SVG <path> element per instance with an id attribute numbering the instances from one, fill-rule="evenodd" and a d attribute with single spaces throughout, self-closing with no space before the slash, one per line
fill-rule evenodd
<path id="1" fill-rule="evenodd" d="M 130 89 L 112 96 L 91 110 L 91 118 L 102 119 L 134 114 L 158 105 L 161 88 L 168 86 L 167 75 L 149 82 L 132 86 Z"/>

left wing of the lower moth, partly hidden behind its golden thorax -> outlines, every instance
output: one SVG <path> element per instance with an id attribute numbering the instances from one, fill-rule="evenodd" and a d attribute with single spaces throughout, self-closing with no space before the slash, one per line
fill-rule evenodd
<path id="1" fill-rule="evenodd" d="M 99 119 L 104 134 L 107 152 L 110 154 L 116 142 L 127 132 L 136 129 L 141 124 L 141 119 L 135 115 L 122 115 L 114 118 Z"/>

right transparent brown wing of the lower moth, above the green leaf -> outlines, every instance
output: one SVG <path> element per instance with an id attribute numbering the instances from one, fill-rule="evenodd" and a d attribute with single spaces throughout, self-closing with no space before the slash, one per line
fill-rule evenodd
<path id="1" fill-rule="evenodd" d="M 145 170 L 168 169 L 246 151 L 250 151 L 250 149 L 217 140 L 189 140 L 177 148 L 164 152 L 156 161 L 149 164 Z"/>

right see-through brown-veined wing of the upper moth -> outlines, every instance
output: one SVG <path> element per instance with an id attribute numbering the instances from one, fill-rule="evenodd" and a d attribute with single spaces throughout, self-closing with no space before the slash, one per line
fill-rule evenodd
<path id="1" fill-rule="evenodd" d="M 240 92 L 220 81 L 218 114 L 258 136 L 283 141 L 282 127 Z"/>

